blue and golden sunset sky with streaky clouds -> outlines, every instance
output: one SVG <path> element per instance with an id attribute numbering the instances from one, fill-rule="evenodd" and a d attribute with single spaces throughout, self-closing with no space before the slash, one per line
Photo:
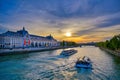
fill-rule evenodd
<path id="1" fill-rule="evenodd" d="M 0 33 L 23 26 L 60 41 L 109 40 L 120 34 L 120 0 L 0 0 Z"/>

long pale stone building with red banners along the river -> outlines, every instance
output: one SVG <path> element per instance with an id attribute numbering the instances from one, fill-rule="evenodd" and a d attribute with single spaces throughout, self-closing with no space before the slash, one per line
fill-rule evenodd
<path id="1" fill-rule="evenodd" d="M 53 47 L 59 42 L 51 35 L 43 37 L 29 34 L 23 27 L 17 32 L 7 31 L 0 34 L 0 48 Z"/>

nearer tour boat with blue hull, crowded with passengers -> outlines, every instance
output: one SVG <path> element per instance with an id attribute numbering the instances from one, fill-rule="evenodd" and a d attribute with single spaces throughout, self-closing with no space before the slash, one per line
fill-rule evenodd
<path id="1" fill-rule="evenodd" d="M 75 65 L 77 68 L 92 68 L 92 61 L 90 58 L 84 56 L 82 58 L 79 58 Z"/>

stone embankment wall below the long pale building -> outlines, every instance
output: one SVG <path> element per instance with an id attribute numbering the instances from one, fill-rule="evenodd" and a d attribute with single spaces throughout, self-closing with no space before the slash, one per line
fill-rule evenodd
<path id="1" fill-rule="evenodd" d="M 47 50 L 55 50 L 69 47 L 45 47 L 45 48 L 25 48 L 25 49 L 0 49 L 0 55 L 8 55 L 8 54 L 18 54 L 18 53 L 28 53 L 28 52 L 39 52 L 39 51 L 47 51 Z"/>

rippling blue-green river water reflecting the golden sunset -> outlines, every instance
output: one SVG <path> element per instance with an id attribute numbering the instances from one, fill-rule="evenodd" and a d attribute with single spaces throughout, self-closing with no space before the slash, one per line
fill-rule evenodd
<path id="1" fill-rule="evenodd" d="M 70 57 L 61 56 L 62 49 L 0 56 L 0 80 L 120 80 L 120 58 L 98 47 L 74 48 Z M 93 69 L 77 69 L 74 61 L 88 56 Z"/>

